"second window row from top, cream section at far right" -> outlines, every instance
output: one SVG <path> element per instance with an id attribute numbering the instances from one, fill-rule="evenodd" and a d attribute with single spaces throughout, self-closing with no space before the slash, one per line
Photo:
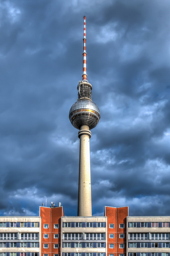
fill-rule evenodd
<path id="1" fill-rule="evenodd" d="M 132 240 L 169 240 L 170 233 L 130 233 L 129 239 Z"/>

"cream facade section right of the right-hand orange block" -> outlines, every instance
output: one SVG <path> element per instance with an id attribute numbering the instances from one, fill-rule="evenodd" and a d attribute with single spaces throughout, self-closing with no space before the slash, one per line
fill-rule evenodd
<path id="1" fill-rule="evenodd" d="M 128 256 L 170 256 L 170 217 L 130 217 L 127 222 Z"/>

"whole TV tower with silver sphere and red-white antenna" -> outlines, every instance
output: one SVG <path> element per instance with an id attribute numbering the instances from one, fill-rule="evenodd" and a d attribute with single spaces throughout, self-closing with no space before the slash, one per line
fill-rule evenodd
<path id="1" fill-rule="evenodd" d="M 91 177 L 90 177 L 90 130 L 97 126 L 100 120 L 100 110 L 91 99 L 92 85 L 87 81 L 86 73 L 86 16 L 84 16 L 83 37 L 83 74 L 78 84 L 78 100 L 69 112 L 71 124 L 79 129 L 79 191 L 78 216 L 92 216 L 91 212 Z"/>

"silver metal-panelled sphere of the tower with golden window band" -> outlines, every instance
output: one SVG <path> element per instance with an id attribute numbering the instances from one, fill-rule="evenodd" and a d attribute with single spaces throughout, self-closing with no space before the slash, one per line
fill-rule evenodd
<path id="1" fill-rule="evenodd" d="M 100 110 L 92 100 L 80 99 L 72 105 L 69 119 L 77 129 L 80 129 L 82 125 L 88 125 L 89 129 L 92 129 L 99 123 Z"/>

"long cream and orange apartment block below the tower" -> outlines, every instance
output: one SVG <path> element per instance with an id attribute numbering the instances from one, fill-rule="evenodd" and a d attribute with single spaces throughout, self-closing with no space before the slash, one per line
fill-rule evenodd
<path id="1" fill-rule="evenodd" d="M 40 207 L 39 217 L 0 217 L 0 256 L 170 256 L 170 216 L 65 216 Z"/>

